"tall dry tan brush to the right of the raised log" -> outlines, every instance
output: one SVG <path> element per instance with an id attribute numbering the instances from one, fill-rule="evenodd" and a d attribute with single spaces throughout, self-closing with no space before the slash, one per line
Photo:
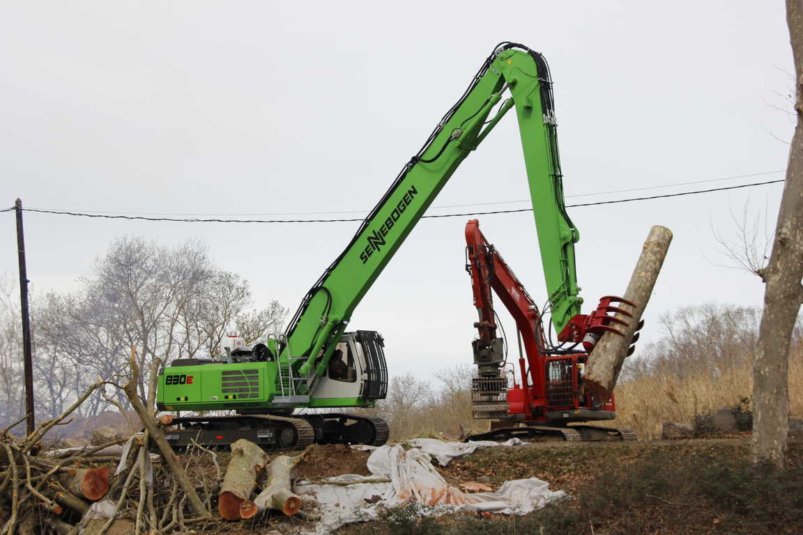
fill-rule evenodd
<path id="1" fill-rule="evenodd" d="M 658 439 L 665 421 L 693 424 L 695 415 L 751 397 L 759 318 L 757 309 L 710 304 L 661 318 L 664 336 L 626 363 L 616 387 L 616 425 Z M 799 326 L 789 355 L 789 391 L 803 391 Z M 791 415 L 803 416 L 803 399 L 790 395 L 789 401 Z"/>

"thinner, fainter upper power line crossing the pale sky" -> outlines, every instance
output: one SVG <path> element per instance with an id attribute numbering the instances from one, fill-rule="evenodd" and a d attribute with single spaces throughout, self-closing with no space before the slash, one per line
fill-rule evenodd
<path id="1" fill-rule="evenodd" d="M 596 192 L 596 193 L 577 193 L 576 195 L 566 195 L 566 199 L 574 199 L 578 197 L 594 197 L 597 195 L 610 195 L 613 193 L 629 193 L 629 192 L 640 192 L 646 191 L 649 189 L 662 189 L 662 188 L 675 188 L 677 186 L 687 186 L 691 184 L 707 184 L 711 182 L 722 182 L 724 180 L 737 180 L 740 178 L 750 178 L 753 176 L 766 176 L 766 175 L 774 175 L 779 172 L 785 172 L 786 169 L 778 169 L 776 171 L 764 171 L 764 172 L 752 172 L 747 175 L 732 175 L 732 176 L 723 176 L 721 178 L 709 178 L 706 180 L 692 180 L 691 182 L 675 182 L 673 184 L 661 184 L 657 186 L 644 186 L 642 188 L 626 188 L 626 189 L 612 189 L 609 191 L 604 192 Z M 492 205 L 515 205 L 522 202 L 530 202 L 530 199 L 518 199 L 515 201 L 489 201 L 489 202 L 473 202 L 473 203 L 466 203 L 461 205 L 441 205 L 441 206 L 430 206 L 430 209 L 437 210 L 437 209 L 447 209 L 447 208 L 466 208 L 468 206 L 492 206 Z M 2 210 L 5 211 L 5 210 Z M 151 216 L 151 217 L 231 217 L 233 214 L 231 213 L 198 213 L 198 212 L 111 212 L 108 210 L 82 210 L 82 209 L 72 209 L 72 210 L 65 210 L 69 212 L 79 212 L 79 213 L 99 213 L 104 215 L 116 215 L 116 216 Z M 247 216 L 247 217 L 273 217 L 273 216 L 328 216 L 333 215 L 336 213 L 368 213 L 369 210 L 337 210 L 334 212 L 272 212 L 272 213 L 240 213 L 239 216 Z M 360 220 L 362 221 L 362 220 Z"/>

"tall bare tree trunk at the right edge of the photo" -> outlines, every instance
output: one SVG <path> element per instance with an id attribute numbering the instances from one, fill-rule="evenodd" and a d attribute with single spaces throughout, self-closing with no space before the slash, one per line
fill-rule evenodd
<path id="1" fill-rule="evenodd" d="M 803 301 L 803 2 L 786 1 L 795 63 L 797 126 L 789 148 L 786 184 L 764 270 L 764 314 L 753 363 L 752 457 L 783 466 L 789 432 L 789 342 Z"/>

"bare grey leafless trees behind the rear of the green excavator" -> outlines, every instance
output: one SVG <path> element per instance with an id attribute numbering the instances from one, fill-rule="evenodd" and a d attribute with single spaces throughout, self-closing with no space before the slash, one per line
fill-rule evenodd
<path id="1" fill-rule="evenodd" d="M 6 306 L 2 298 L 0 304 Z M 164 364 L 214 355 L 221 338 L 240 334 L 241 326 L 247 327 L 243 335 L 251 339 L 281 329 L 287 310 L 277 302 L 265 309 L 251 307 L 247 281 L 220 269 L 197 241 L 167 247 L 140 237 L 117 239 L 78 290 L 47 294 L 32 307 L 35 380 L 43 414 L 58 414 L 99 378 L 124 374 L 132 346 L 137 347 L 142 371 L 137 389 L 147 399 L 156 359 Z M 6 361 L 16 366 L 6 355 L 16 351 L 18 341 L 12 335 L 18 328 L 10 328 L 6 337 L 6 323 L 2 322 L 0 344 L 10 348 L 0 353 L 0 372 Z M 8 392 L 9 400 L 18 402 L 12 371 L 0 376 L 0 381 L 8 377 L 11 383 L 0 396 Z M 129 406 L 121 391 L 111 389 L 108 395 L 121 407 Z M 80 414 L 96 414 L 107 404 L 100 393 L 93 395 Z"/>

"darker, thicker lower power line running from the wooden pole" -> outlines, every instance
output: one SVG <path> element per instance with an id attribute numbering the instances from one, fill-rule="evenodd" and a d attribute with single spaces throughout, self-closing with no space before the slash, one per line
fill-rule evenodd
<path id="1" fill-rule="evenodd" d="M 766 184 L 778 184 L 784 182 L 780 180 L 768 180 L 766 182 L 755 182 L 753 184 L 740 184 L 738 186 L 725 186 L 723 188 L 699 189 L 691 192 L 680 193 L 665 193 L 663 195 L 654 195 L 651 197 L 631 197 L 630 199 L 617 199 L 614 201 L 598 201 L 588 202 L 578 205 L 567 205 L 566 208 L 580 208 L 583 206 L 598 206 L 598 205 L 616 205 L 624 202 L 635 201 L 651 201 L 653 199 L 665 199 L 669 197 L 683 197 L 687 195 L 699 195 L 700 193 L 713 193 L 721 192 L 729 189 L 752 188 L 754 186 L 763 186 Z M 0 212 L 9 212 L 14 207 L 9 209 L 2 209 Z M 62 216 L 75 216 L 75 217 L 94 217 L 100 219 L 124 219 L 129 221 L 171 221 L 177 223 L 344 223 L 344 222 L 357 222 L 363 221 L 361 218 L 351 219 L 178 219 L 175 217 L 146 217 L 146 216 L 122 216 L 122 215 L 109 215 L 106 213 L 84 213 L 84 212 L 67 212 L 62 210 L 47 210 L 35 208 L 23 208 L 24 212 L 35 213 L 51 213 Z M 422 216 L 422 219 L 434 219 L 439 217 L 467 217 L 467 216 L 487 216 L 497 213 L 519 213 L 519 212 L 532 212 L 532 208 L 511 209 L 511 210 L 494 210 L 491 212 L 471 212 L 471 213 L 444 213 L 434 214 L 429 216 Z"/>

